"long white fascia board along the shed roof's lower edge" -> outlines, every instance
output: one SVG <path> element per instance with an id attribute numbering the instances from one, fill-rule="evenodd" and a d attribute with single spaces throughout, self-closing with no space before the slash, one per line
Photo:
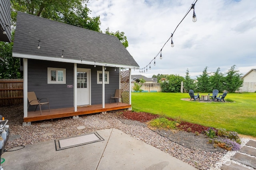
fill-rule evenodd
<path id="1" fill-rule="evenodd" d="M 57 58 L 57 57 L 45 57 L 45 56 L 39 56 L 39 55 L 30 55 L 30 54 L 21 54 L 21 53 L 12 53 L 12 57 L 19 57 L 24 59 L 37 59 L 37 60 L 46 60 L 46 61 L 58 61 L 58 62 L 65 62 L 65 63 L 76 63 L 76 64 L 87 64 L 87 65 L 94 65 L 94 61 L 85 61 L 78 59 L 65 59 L 64 58 Z M 50 60 L 49 60 L 50 59 Z M 120 64 L 109 64 L 109 63 L 97 63 L 97 66 L 108 66 L 108 67 L 120 67 L 120 68 L 134 68 L 139 69 L 138 66 L 127 66 L 127 65 L 120 65 Z"/>

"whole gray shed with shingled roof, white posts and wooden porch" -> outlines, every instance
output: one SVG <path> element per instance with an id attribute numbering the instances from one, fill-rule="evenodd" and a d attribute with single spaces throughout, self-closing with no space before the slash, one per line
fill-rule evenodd
<path id="1" fill-rule="evenodd" d="M 109 107 L 110 95 L 122 88 L 120 68 L 128 68 L 128 75 L 131 68 L 139 68 L 115 36 L 22 12 L 17 15 L 12 55 L 23 60 L 24 122 L 109 111 L 104 108 L 105 104 Z M 35 109 L 28 108 L 30 91 L 38 98 L 48 98 L 51 112 L 45 110 L 44 114 L 50 116 L 30 118 Z M 125 107 L 130 108 L 130 92 L 126 94 Z M 94 105 L 100 107 L 92 111 Z M 82 112 L 79 106 L 91 110 Z M 65 113 L 68 108 L 72 111 Z M 64 113 L 57 115 L 52 109 Z"/>

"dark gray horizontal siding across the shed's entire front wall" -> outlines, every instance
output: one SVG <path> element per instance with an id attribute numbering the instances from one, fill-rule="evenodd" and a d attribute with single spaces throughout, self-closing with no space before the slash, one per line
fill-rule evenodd
<path id="1" fill-rule="evenodd" d="M 48 84 L 47 68 L 66 68 L 66 84 Z M 102 66 L 77 64 L 77 68 L 91 69 L 91 101 L 92 105 L 102 104 L 102 84 L 97 84 L 97 70 Z M 107 67 L 109 71 L 109 84 L 105 84 L 105 104 L 110 103 L 111 94 L 119 88 L 119 68 L 114 71 L 113 67 Z M 34 91 L 38 98 L 47 98 L 50 102 L 50 109 L 74 107 L 74 88 L 67 88 L 67 85 L 74 84 L 74 64 L 60 63 L 53 61 L 41 61 L 28 59 L 28 92 Z M 112 100 L 114 102 L 114 100 Z M 33 111 L 35 106 L 30 106 L 28 111 Z M 42 106 L 48 109 L 48 106 Z"/>

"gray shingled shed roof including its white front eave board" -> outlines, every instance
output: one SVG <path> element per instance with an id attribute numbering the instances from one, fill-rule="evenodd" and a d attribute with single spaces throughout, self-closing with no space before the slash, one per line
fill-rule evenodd
<path id="1" fill-rule="evenodd" d="M 17 15 L 12 52 L 13 57 L 28 59 L 80 64 L 82 59 L 82 64 L 139 67 L 115 36 L 22 12 Z"/>

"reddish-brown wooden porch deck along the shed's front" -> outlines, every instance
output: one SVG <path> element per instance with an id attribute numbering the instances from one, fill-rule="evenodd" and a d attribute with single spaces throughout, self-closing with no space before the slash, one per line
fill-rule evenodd
<path id="1" fill-rule="evenodd" d="M 132 107 L 130 104 L 112 103 L 112 104 L 105 104 L 105 108 L 102 108 L 102 104 L 90 105 L 85 107 L 78 106 L 77 111 L 74 111 L 74 107 L 50 109 L 50 112 L 48 109 L 46 109 L 46 110 L 42 110 L 42 115 L 40 113 L 40 110 L 28 111 L 28 117 L 24 117 L 24 122 L 48 120 L 48 119 L 55 119 L 55 118 L 61 118 L 61 117 L 85 115 L 85 114 L 91 114 L 91 113 L 100 113 L 105 111 L 127 109 L 130 107 Z"/>

